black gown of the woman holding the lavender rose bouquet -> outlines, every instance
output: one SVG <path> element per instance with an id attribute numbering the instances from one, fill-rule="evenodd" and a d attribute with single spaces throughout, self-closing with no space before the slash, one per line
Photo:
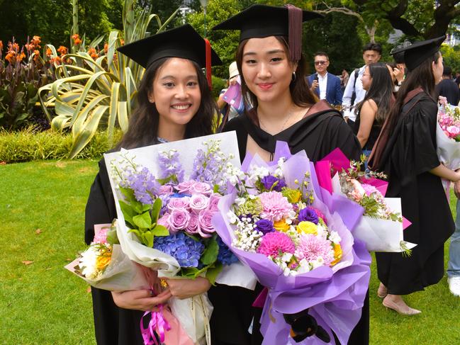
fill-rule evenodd
<path id="1" fill-rule="evenodd" d="M 111 223 L 116 217 L 115 200 L 108 180 L 106 164 L 101 159 L 99 174 L 94 179 L 86 203 L 84 232 L 86 244 L 94 238 L 95 224 Z M 140 334 L 140 319 L 143 312 L 117 307 L 110 291 L 91 287 L 91 295 L 98 345 L 144 344 Z"/>

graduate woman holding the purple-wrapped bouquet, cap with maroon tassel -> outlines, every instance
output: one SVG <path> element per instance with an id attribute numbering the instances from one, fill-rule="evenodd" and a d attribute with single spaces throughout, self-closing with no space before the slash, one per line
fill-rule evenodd
<path id="1" fill-rule="evenodd" d="M 304 149 L 313 162 L 336 147 L 351 159 L 359 158 L 361 147 L 342 115 L 326 101 L 316 103 L 305 79 L 302 22 L 318 17 L 294 6 L 253 5 L 215 26 L 241 30 L 237 66 L 246 108 L 252 109 L 224 128 L 237 132 L 241 159 L 249 152 L 270 161 L 276 140 L 288 142 L 292 153 Z M 255 291 L 218 285 L 208 291 L 214 305 L 213 345 L 262 343 L 262 309 L 252 307 L 261 290 L 260 285 Z M 369 295 L 364 304 L 349 344 L 369 343 Z"/>

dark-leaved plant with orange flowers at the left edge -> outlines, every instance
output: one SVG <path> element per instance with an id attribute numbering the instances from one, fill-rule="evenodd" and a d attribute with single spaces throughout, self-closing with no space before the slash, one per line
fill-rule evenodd
<path id="1" fill-rule="evenodd" d="M 21 49 L 13 38 L 5 57 L 2 48 L 0 41 L 0 128 L 18 130 L 32 122 L 38 89 L 53 81 L 54 73 L 40 57 L 38 36 Z"/>

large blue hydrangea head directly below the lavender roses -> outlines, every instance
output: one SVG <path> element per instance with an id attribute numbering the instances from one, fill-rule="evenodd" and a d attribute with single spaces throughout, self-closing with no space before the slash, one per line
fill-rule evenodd
<path id="1" fill-rule="evenodd" d="M 155 237 L 155 249 L 173 256 L 181 267 L 198 267 L 204 244 L 178 232 L 169 236 Z"/>

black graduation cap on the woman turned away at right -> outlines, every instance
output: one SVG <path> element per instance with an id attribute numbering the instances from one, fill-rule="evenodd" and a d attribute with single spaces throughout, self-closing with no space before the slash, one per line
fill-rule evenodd
<path id="1" fill-rule="evenodd" d="M 407 47 L 399 47 L 396 50 L 392 50 L 391 55 L 403 53 L 404 63 L 409 71 L 412 71 L 415 67 L 420 66 L 422 62 L 432 57 L 439 50 L 445 39 L 446 36 L 444 35 L 432 38 L 431 40 L 414 42 Z"/>

